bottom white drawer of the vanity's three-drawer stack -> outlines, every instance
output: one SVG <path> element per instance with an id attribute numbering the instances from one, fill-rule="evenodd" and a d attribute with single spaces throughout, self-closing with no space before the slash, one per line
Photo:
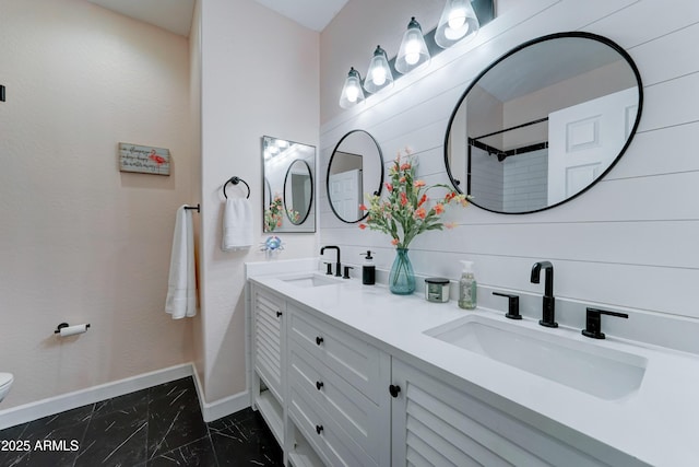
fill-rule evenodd
<path id="1" fill-rule="evenodd" d="M 289 385 L 288 413 L 316 453 L 330 466 L 375 466 L 359 446 L 342 431 L 332 417 L 309 400 L 303 388 Z"/>

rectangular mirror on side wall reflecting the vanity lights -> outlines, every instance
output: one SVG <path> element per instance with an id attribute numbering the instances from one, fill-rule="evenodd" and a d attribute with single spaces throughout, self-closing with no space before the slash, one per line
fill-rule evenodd
<path id="1" fill-rule="evenodd" d="M 264 233 L 316 232 L 316 147 L 262 137 Z"/>

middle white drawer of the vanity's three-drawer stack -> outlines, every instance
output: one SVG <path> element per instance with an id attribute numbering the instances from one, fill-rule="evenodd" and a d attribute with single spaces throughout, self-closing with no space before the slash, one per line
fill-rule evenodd
<path id="1" fill-rule="evenodd" d="M 287 362 L 291 386 L 305 393 L 315 407 L 321 407 L 374 463 L 388 459 L 388 450 L 381 452 L 389 436 L 388 404 L 382 411 L 296 342 L 289 343 Z"/>

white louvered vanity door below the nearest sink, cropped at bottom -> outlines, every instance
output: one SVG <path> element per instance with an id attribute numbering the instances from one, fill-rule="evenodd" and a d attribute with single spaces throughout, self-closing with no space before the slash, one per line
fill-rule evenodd
<path id="1" fill-rule="evenodd" d="M 391 381 L 394 467 L 607 465 L 396 359 Z"/>

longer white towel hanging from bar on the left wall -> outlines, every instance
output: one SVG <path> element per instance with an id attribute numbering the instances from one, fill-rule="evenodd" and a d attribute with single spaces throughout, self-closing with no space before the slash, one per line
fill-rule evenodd
<path id="1" fill-rule="evenodd" d="M 197 314 L 194 230 L 192 211 L 185 209 L 185 206 L 177 210 L 177 220 L 175 221 L 165 313 L 173 315 L 173 319 Z"/>

